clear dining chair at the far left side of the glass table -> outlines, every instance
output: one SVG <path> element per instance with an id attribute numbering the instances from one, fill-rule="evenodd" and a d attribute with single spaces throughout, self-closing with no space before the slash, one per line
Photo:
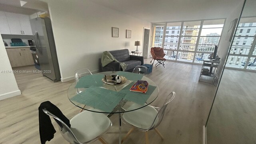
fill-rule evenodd
<path id="1" fill-rule="evenodd" d="M 88 70 L 87 68 L 81 68 L 78 70 L 75 70 L 75 81 L 76 83 L 78 83 L 79 79 L 82 78 L 83 76 L 88 76 L 88 75 L 92 75 L 92 72 L 90 72 L 90 70 Z M 96 81 L 95 81 L 96 83 Z M 82 92 L 84 90 L 84 88 L 76 88 L 76 94 L 79 94 L 80 92 Z M 83 108 L 86 105 L 83 106 Z M 79 112 L 82 112 L 84 109 L 81 108 L 81 110 Z"/>

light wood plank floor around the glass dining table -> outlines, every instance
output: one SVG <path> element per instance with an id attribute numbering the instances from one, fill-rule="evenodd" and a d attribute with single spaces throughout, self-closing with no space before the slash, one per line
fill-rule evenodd
<path id="1" fill-rule="evenodd" d="M 150 64 L 151 59 L 145 59 Z M 153 67 L 149 78 L 160 88 L 153 106 L 161 106 L 165 96 L 176 92 L 176 98 L 168 105 L 166 115 L 158 130 L 164 140 L 149 131 L 150 144 L 201 144 L 203 125 L 210 110 L 216 87 L 198 82 L 202 66 L 178 62 L 165 62 L 165 68 Z M 33 66 L 15 68 L 32 70 Z M 41 74 L 15 74 L 22 95 L 0 101 L 0 144 L 39 144 L 38 106 L 46 100 L 56 104 L 67 116 L 73 116 L 80 109 L 67 98 L 67 89 L 73 81 L 53 83 Z M 118 143 L 118 115 L 110 117 L 112 128 L 103 135 L 109 144 Z M 68 144 L 57 130 L 54 139 L 46 144 Z M 122 125 L 122 137 L 130 130 Z M 124 144 L 144 144 L 143 132 L 132 132 Z M 101 144 L 99 141 L 94 144 Z"/>

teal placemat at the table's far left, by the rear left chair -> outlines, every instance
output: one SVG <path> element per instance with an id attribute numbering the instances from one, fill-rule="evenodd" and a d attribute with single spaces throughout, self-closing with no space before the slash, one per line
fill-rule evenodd
<path id="1" fill-rule="evenodd" d="M 101 81 L 104 78 L 104 74 L 90 74 L 88 76 L 83 76 L 77 82 L 75 88 L 89 88 L 90 86 L 103 86 Z"/>

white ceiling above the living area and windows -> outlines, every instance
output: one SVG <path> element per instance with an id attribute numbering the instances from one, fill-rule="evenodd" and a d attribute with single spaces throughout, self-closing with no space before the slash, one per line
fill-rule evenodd
<path id="1" fill-rule="evenodd" d="M 226 18 L 244 0 L 92 0 L 107 8 L 146 20 L 168 22 Z"/>

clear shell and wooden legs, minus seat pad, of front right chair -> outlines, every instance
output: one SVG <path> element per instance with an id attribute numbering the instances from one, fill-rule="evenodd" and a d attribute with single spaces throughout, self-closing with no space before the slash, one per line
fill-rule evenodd
<path id="1" fill-rule="evenodd" d="M 164 113 L 166 110 L 167 105 L 175 98 L 175 92 L 171 92 L 166 100 L 164 101 L 164 105 L 160 108 L 158 107 L 154 107 L 151 106 L 153 108 L 155 108 L 158 112 L 156 114 L 156 117 L 154 118 L 154 121 L 152 122 L 152 125 L 148 128 L 148 129 L 142 129 L 142 128 L 138 128 L 136 126 L 133 126 L 132 124 L 129 124 L 128 122 L 126 122 L 126 120 L 124 120 L 124 118 L 122 118 L 122 120 L 124 121 L 124 123 L 127 123 L 128 125 L 132 126 L 132 128 L 129 130 L 129 132 L 126 134 L 126 136 L 124 136 L 124 138 L 122 139 L 122 142 L 124 142 L 124 140 L 126 140 L 126 138 L 128 138 L 128 136 L 131 134 L 131 132 L 136 128 L 142 132 L 145 132 L 145 136 L 146 136 L 146 144 L 149 144 L 148 141 L 148 130 L 155 130 L 156 133 L 160 136 L 160 138 L 162 140 L 164 140 L 164 137 L 162 136 L 162 134 L 159 132 L 159 130 L 157 129 L 158 125 L 162 122 L 163 118 L 164 118 Z M 172 95 L 172 96 L 171 96 Z M 158 120 L 158 122 L 155 124 L 156 120 Z"/>

